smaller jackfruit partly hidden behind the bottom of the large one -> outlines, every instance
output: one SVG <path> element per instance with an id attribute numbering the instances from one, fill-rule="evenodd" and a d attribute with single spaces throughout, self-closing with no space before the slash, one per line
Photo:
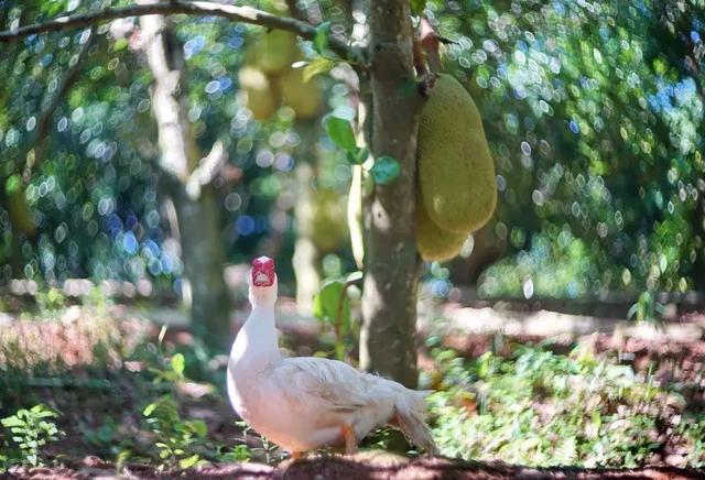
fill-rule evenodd
<path id="1" fill-rule="evenodd" d="M 456 257 L 469 234 L 469 230 L 458 233 L 442 229 L 429 217 L 423 204 L 416 204 L 416 250 L 426 262 Z"/>

